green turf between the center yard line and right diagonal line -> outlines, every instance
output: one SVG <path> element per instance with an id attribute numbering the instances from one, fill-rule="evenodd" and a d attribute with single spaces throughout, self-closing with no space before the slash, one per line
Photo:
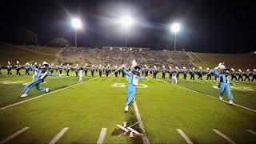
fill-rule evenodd
<path id="1" fill-rule="evenodd" d="M 184 90 L 170 83 L 149 84 L 140 90 L 138 108 L 150 142 L 184 143 L 176 129 L 181 128 L 195 143 L 225 142 L 212 129 L 218 129 L 238 143 L 255 142 L 246 129 L 255 130 L 256 114 L 229 106 L 213 98 Z"/>

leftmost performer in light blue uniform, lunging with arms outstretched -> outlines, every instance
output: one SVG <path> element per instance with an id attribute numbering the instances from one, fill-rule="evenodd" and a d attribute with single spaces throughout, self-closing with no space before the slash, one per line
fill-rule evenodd
<path id="1" fill-rule="evenodd" d="M 40 83 L 44 82 L 44 79 L 47 76 L 54 76 L 58 74 L 50 74 L 49 72 L 47 72 L 47 69 L 49 66 L 47 62 L 42 62 L 42 70 L 38 70 L 37 68 L 35 68 L 35 66 L 30 65 L 28 62 L 26 63 L 26 66 L 30 66 L 30 69 L 33 69 L 35 72 L 37 72 L 38 76 L 34 79 L 33 82 L 26 85 L 20 97 L 21 98 L 27 97 L 28 96 L 27 94 L 29 93 L 30 89 L 34 86 L 37 90 L 48 93 L 50 89 L 39 87 Z"/>

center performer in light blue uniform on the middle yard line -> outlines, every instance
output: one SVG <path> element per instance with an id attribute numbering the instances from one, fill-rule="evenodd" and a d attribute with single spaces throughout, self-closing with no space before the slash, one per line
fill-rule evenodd
<path id="1" fill-rule="evenodd" d="M 129 73 L 125 66 L 122 65 L 122 70 L 128 76 L 128 90 L 127 90 L 127 102 L 125 107 L 125 112 L 128 112 L 129 106 L 132 102 L 135 101 L 135 94 L 138 88 L 138 81 L 141 79 L 146 79 L 146 77 L 140 77 L 140 67 L 134 66 L 134 70 L 132 73 Z"/>

